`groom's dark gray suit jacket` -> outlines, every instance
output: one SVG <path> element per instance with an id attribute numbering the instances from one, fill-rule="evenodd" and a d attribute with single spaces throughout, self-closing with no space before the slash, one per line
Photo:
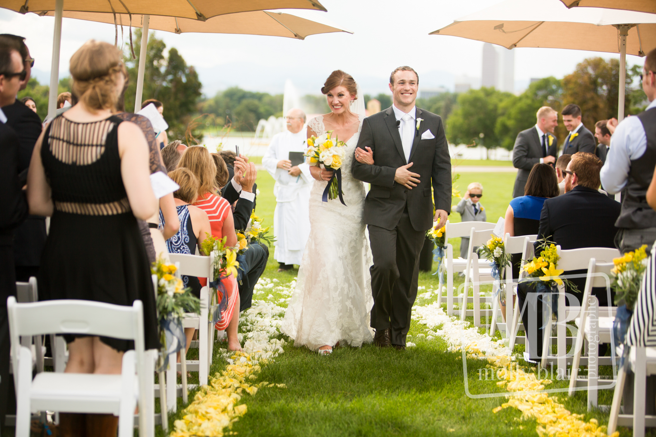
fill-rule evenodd
<path id="1" fill-rule="evenodd" d="M 451 158 L 444 124 L 439 115 L 419 108 L 415 119 L 423 121 L 410 151 L 409 162 L 413 165 L 408 170 L 420 175 L 420 182 L 413 189 L 394 181 L 396 169 L 407 162 L 392 107 L 367 117 L 362 123 L 358 147 L 371 147 L 374 164 L 361 164 L 354 159 L 351 172 L 354 178 L 371 183 L 371 190 L 365 199 L 364 219 L 367 225 L 394 229 L 407 203 L 415 231 L 430 229 L 434 215 L 431 185 L 436 209 L 445 210 L 447 214 L 451 212 Z M 435 138 L 421 140 L 426 130 L 430 130 Z"/>

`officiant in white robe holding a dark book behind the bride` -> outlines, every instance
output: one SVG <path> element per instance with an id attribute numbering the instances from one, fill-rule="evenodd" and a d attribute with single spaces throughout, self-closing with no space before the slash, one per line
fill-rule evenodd
<path id="1" fill-rule="evenodd" d="M 310 166 L 303 157 L 308 147 L 305 113 L 300 109 L 289 109 L 286 121 L 287 130 L 274 135 L 262 157 L 262 166 L 276 180 L 274 259 L 279 263 L 278 271 L 300 265 L 310 235 L 308 202 L 313 181 Z"/>

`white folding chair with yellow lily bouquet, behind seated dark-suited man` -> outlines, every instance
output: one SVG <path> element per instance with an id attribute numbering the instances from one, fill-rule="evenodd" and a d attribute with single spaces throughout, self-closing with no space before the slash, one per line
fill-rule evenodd
<path id="1" fill-rule="evenodd" d="M 609 261 L 613 261 L 613 258 L 620 256 L 619 250 L 615 248 L 579 248 L 562 250 L 560 246 L 556 247 L 558 248 L 558 256 L 560 256 L 560 260 L 558 261 L 558 268 L 565 271 L 587 269 L 590 265 L 590 259 L 595 259 L 600 262 L 607 263 Z M 566 312 L 565 284 L 563 283 L 562 286 L 558 286 L 558 326 L 556 328 L 556 345 L 558 347 L 558 356 L 555 358 L 555 360 L 558 363 L 558 373 L 562 378 L 565 377 L 567 358 L 568 356 L 572 355 L 567 354 L 566 352 L 566 345 L 568 341 L 566 323 L 573 320 L 578 313 L 579 307 L 573 307 L 571 311 Z M 552 362 L 554 361 L 554 357 L 548 355 L 548 352 L 551 351 L 551 328 L 552 318 L 547 317 L 544 328 L 542 348 L 541 366 L 543 368 L 546 367 L 547 360 Z M 572 337 L 569 338 L 569 340 L 572 339 Z"/>

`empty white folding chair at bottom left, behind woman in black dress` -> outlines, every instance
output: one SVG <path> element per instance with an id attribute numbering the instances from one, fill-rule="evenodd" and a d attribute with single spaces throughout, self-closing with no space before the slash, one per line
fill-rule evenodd
<path id="1" fill-rule="evenodd" d="M 12 362 L 18 370 L 16 436 L 30 436 L 31 411 L 111 413 L 119 417 L 119 437 L 134 434 L 134 408 L 146 398 L 144 371 L 144 315 L 141 301 L 131 307 L 110 303 L 53 300 L 16 303 L 7 299 Z M 20 344 L 21 335 L 78 333 L 134 341 L 134 351 L 123 354 L 120 375 L 41 372 L 32 380 L 32 356 Z M 139 415 L 140 434 L 146 435 L 146 417 Z"/>

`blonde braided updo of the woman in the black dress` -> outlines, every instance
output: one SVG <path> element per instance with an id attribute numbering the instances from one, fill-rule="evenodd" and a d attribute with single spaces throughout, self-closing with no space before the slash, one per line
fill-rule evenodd
<path id="1" fill-rule="evenodd" d="M 119 100 L 117 77 L 127 71 L 121 50 L 109 43 L 90 39 L 71 57 L 69 70 L 73 94 L 92 109 L 114 110 Z"/>

